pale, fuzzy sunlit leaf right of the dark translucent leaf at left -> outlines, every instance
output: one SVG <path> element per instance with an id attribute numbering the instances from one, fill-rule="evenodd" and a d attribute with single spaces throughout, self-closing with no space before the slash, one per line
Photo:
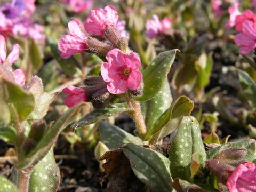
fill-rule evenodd
<path id="1" fill-rule="evenodd" d="M 49 94 L 44 92 L 42 79 L 37 76 L 31 78 L 31 81 L 26 86 L 26 91 L 33 93 L 36 104 L 30 119 L 42 119 L 46 115 L 49 105 L 57 93 Z"/>

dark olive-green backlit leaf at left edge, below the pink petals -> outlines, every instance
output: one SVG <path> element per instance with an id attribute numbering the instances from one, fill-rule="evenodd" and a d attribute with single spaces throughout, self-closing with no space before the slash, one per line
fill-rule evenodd
<path id="1" fill-rule="evenodd" d="M 1 85 L 2 84 L 2 85 Z M 3 79 L 0 86 L 4 90 L 5 101 L 9 104 L 13 113 L 17 113 L 19 122 L 24 121 L 35 108 L 35 99 L 32 93 L 23 90 L 18 85 Z"/>

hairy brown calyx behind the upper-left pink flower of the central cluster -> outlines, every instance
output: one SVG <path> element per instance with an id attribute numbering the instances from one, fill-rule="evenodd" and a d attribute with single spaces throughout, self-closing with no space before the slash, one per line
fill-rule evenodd
<path id="1" fill-rule="evenodd" d="M 98 55 L 100 58 L 105 60 L 107 53 L 114 49 L 112 45 L 107 43 L 103 43 L 96 38 L 90 37 L 86 40 L 86 44 L 89 46 L 89 49 L 86 50 L 87 52 L 93 53 Z"/>

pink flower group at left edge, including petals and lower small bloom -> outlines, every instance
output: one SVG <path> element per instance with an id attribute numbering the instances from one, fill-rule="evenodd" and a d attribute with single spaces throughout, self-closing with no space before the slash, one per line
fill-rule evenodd
<path id="1" fill-rule="evenodd" d="M 9 80 L 15 82 L 19 86 L 25 85 L 26 73 L 22 69 L 12 71 L 11 67 L 14 62 L 19 59 L 19 45 L 13 45 L 12 51 L 6 58 L 6 43 L 2 35 L 0 35 L 0 65 L 6 71 L 6 75 L 10 74 Z"/>

